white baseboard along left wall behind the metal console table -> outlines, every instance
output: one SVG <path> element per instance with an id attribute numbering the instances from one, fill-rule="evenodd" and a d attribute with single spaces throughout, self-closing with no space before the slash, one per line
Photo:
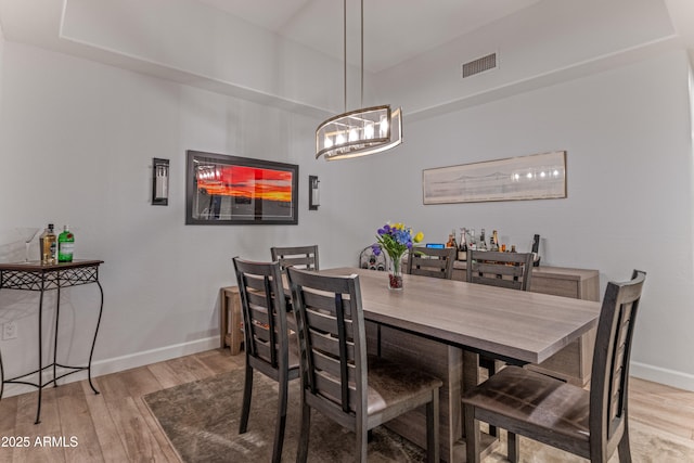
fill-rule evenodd
<path id="1" fill-rule="evenodd" d="M 91 364 L 91 377 L 149 365 L 151 363 L 163 362 L 165 360 L 176 359 L 178 357 L 190 356 L 191 353 L 204 352 L 205 350 L 211 350 L 217 347 L 219 347 L 219 336 L 213 336 L 203 339 L 191 340 L 189 343 L 145 350 L 143 352 L 136 352 L 128 356 L 99 360 L 92 362 Z M 67 370 L 64 369 L 57 369 L 57 375 L 66 371 Z M 49 372 L 46 372 L 44 381 L 50 381 L 50 378 L 52 377 L 48 376 L 48 373 Z M 59 381 L 59 384 L 74 383 L 81 380 L 87 380 L 87 371 L 81 371 L 79 373 L 65 376 L 64 378 Z M 36 387 L 22 384 L 8 384 L 4 387 L 2 397 L 18 396 L 20 394 L 31 391 L 36 391 Z"/>

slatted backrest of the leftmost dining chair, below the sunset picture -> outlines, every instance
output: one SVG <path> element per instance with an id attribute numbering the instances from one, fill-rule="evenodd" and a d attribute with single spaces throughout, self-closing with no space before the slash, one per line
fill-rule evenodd
<path id="1" fill-rule="evenodd" d="M 233 259 L 244 327 L 244 350 L 254 368 L 268 374 L 288 357 L 286 301 L 278 262 Z M 277 377 L 274 373 L 271 373 Z"/>

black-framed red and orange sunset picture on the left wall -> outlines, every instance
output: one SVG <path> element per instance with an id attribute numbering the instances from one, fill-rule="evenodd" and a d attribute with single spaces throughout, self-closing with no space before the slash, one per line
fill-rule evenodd
<path id="1" fill-rule="evenodd" d="M 297 165 L 200 151 L 187 155 L 187 224 L 298 223 Z"/>

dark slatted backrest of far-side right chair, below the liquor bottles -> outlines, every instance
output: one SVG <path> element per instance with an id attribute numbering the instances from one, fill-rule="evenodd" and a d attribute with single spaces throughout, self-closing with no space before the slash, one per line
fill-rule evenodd
<path id="1" fill-rule="evenodd" d="M 466 272 L 468 283 L 528 291 L 532 253 L 467 249 Z"/>

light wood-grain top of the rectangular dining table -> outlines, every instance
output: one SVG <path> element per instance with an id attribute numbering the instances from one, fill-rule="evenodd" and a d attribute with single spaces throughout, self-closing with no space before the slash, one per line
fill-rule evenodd
<path id="1" fill-rule="evenodd" d="M 351 267 L 322 274 L 358 274 L 364 319 L 471 350 L 540 363 L 597 325 L 600 303 L 541 293 L 403 275 L 388 290 L 384 272 Z"/>

